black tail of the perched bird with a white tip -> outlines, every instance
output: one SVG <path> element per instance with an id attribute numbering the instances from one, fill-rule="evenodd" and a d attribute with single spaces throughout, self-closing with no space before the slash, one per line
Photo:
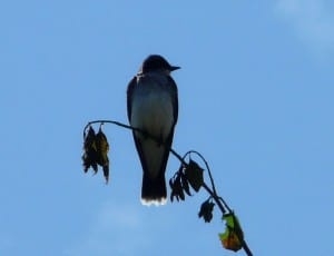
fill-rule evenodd
<path id="1" fill-rule="evenodd" d="M 153 178 L 148 174 L 143 175 L 141 203 L 143 205 L 165 205 L 167 197 L 164 171 Z"/>

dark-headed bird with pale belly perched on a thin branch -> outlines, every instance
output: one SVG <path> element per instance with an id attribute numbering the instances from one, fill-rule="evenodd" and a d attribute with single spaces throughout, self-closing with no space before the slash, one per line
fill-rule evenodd
<path id="1" fill-rule="evenodd" d="M 127 114 L 143 167 L 141 204 L 165 205 L 165 171 L 178 118 L 177 85 L 171 66 L 159 55 L 150 55 L 127 88 Z"/>

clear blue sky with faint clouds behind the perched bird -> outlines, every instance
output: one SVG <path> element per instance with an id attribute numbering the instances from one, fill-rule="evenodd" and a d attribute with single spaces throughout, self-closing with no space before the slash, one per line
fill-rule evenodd
<path id="1" fill-rule="evenodd" d="M 149 53 L 181 67 L 174 148 L 206 157 L 254 255 L 334 254 L 331 1 L 13 0 L 0 32 L 1 255 L 244 255 L 222 248 L 219 211 L 197 218 L 204 191 L 140 205 L 128 130 L 104 129 L 109 185 L 82 171 L 84 126 L 127 121 Z"/>

